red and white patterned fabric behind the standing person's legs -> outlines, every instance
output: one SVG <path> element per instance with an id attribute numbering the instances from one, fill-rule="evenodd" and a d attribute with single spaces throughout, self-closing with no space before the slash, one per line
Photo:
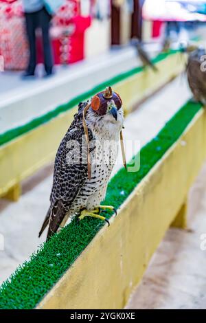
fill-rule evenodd
<path id="1" fill-rule="evenodd" d="M 54 63 L 75 63 L 84 58 L 84 32 L 91 17 L 80 16 L 80 1 L 65 0 L 52 19 Z M 21 0 L 0 0 L 0 55 L 5 69 L 25 69 L 29 58 Z M 43 63 L 41 36 L 37 38 L 37 60 Z"/>

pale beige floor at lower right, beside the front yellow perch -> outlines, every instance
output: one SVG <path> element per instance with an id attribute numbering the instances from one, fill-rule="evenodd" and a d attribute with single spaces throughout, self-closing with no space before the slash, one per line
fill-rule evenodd
<path id="1" fill-rule="evenodd" d="M 204 234 L 206 164 L 190 192 L 188 230 L 168 230 L 126 308 L 206 309 Z"/>

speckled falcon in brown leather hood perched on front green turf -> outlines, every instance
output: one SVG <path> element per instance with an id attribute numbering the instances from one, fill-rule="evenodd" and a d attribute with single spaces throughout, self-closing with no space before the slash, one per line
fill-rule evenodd
<path id="1" fill-rule="evenodd" d="M 107 221 L 100 212 L 115 212 L 100 203 L 117 159 L 123 121 L 122 100 L 111 87 L 79 104 L 56 154 L 50 207 L 39 236 L 49 225 L 50 238 L 74 214 L 80 220 L 92 216 Z"/>

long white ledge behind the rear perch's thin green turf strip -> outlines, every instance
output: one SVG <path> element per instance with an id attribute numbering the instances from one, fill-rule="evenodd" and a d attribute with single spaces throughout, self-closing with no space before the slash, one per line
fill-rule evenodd
<path id="1" fill-rule="evenodd" d="M 47 80 L 16 80 L 16 88 L 1 93 L 0 133 L 38 118 L 117 74 L 140 65 L 135 49 L 126 47 L 62 67 Z M 8 76 L 3 77 L 7 80 Z M 19 75 L 16 77 L 20 78 Z"/>

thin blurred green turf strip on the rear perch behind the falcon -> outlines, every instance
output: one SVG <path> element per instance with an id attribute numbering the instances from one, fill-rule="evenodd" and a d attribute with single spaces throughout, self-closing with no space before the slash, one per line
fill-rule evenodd
<path id="1" fill-rule="evenodd" d="M 179 52 L 179 50 L 170 50 L 168 53 L 161 53 L 157 57 L 155 57 L 152 62 L 154 64 L 159 63 L 161 60 L 167 58 L 168 56 L 172 54 L 176 54 Z M 62 104 L 56 109 L 49 111 L 45 113 L 44 115 L 41 115 L 38 118 L 35 118 L 28 122 L 27 124 L 23 124 L 22 126 L 18 126 L 14 129 L 10 129 L 8 131 L 5 131 L 5 133 L 2 133 L 0 135 L 0 146 L 3 144 L 6 144 L 10 142 L 11 140 L 14 140 L 16 137 L 19 137 L 20 135 L 23 135 L 27 133 L 28 131 L 31 131 L 35 129 L 38 126 L 41 126 L 42 124 L 45 124 L 46 122 L 49 122 L 49 120 L 52 120 L 53 118 L 56 118 L 60 113 L 64 113 L 66 111 L 69 111 L 70 109 L 73 109 L 78 105 L 79 102 L 83 102 L 87 100 L 88 98 L 91 98 L 96 93 L 103 91 L 108 86 L 113 86 L 117 84 L 118 82 L 121 82 L 122 80 L 126 80 L 126 78 L 130 78 L 131 76 L 134 76 L 135 74 L 140 73 L 144 70 L 145 67 L 136 67 L 134 69 L 130 69 L 129 71 L 126 71 L 122 74 L 119 74 L 109 80 L 106 80 L 105 82 L 102 82 L 100 85 L 97 85 L 96 87 L 93 87 L 93 89 L 84 92 L 80 94 L 80 96 L 77 96 L 76 98 L 73 98 L 70 100 L 67 104 Z"/>

